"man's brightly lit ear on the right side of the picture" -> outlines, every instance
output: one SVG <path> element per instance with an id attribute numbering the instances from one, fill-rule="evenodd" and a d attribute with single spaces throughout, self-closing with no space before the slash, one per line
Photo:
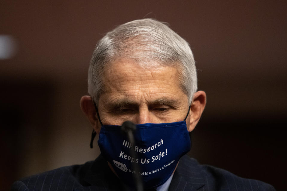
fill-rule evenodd
<path id="1" fill-rule="evenodd" d="M 191 132 L 194 130 L 196 124 L 198 123 L 201 114 L 204 110 L 206 104 L 206 94 L 204 91 L 198 91 L 193 95 L 192 104 L 190 106 L 190 123 L 188 131 Z"/>

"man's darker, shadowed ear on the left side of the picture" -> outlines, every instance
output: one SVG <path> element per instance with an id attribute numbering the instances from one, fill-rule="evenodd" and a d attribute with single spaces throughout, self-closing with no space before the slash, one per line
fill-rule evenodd
<path id="1" fill-rule="evenodd" d="M 85 115 L 87 116 L 95 132 L 99 134 L 101 125 L 99 124 L 96 109 L 95 109 L 94 102 L 92 101 L 91 96 L 83 96 L 80 101 L 80 107 L 82 111 L 85 113 Z"/>

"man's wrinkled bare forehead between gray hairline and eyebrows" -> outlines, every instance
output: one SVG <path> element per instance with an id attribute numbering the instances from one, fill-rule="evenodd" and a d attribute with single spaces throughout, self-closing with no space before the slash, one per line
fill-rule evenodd
<path id="1" fill-rule="evenodd" d="M 141 67 L 132 60 L 121 59 L 104 70 L 102 100 L 117 104 L 174 104 L 178 95 L 186 96 L 179 85 L 178 70 L 170 66 Z"/>

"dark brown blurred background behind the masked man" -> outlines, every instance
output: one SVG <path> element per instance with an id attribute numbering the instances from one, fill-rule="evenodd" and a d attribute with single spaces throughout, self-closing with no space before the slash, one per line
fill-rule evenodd
<path id="1" fill-rule="evenodd" d="M 91 54 L 104 33 L 144 17 L 170 23 L 197 61 L 207 106 L 190 155 L 283 190 L 286 4 L 2 0 L 0 50 L 11 51 L 0 56 L 1 190 L 21 177 L 97 157 L 79 107 Z"/>

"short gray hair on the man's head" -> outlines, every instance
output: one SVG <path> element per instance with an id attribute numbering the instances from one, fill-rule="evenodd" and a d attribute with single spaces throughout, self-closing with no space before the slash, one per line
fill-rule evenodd
<path id="1" fill-rule="evenodd" d="M 88 93 L 98 104 L 104 91 L 103 70 L 118 58 L 129 58 L 144 68 L 178 68 L 179 83 L 189 104 L 197 90 L 193 53 L 189 44 L 166 23 L 141 19 L 117 26 L 97 43 L 88 71 Z"/>

